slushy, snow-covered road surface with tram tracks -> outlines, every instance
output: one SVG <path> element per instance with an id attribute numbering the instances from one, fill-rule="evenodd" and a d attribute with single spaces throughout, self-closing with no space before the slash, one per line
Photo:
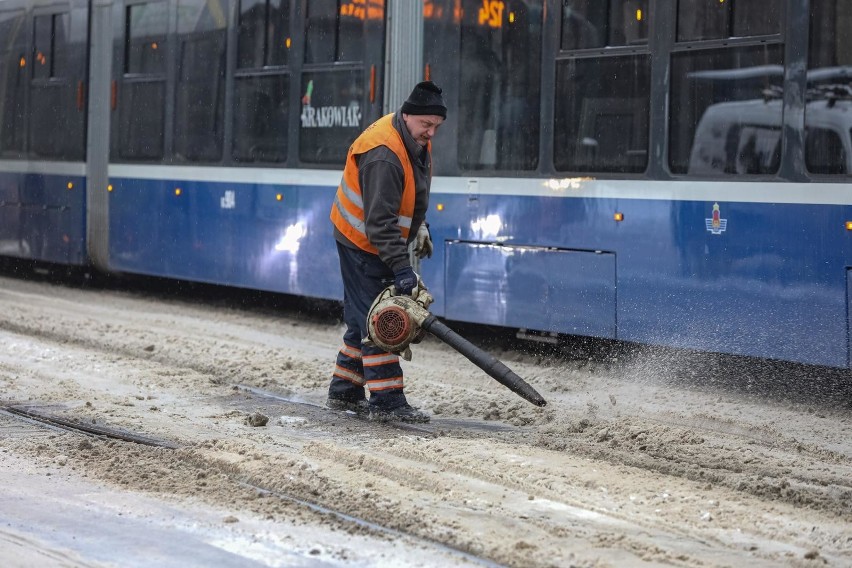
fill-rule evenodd
<path id="1" fill-rule="evenodd" d="M 341 334 L 0 277 L 2 406 L 165 446 L 0 412 L 0 564 L 852 566 L 836 373 L 785 396 L 671 354 L 495 351 L 538 408 L 427 340 L 403 368 L 433 421 L 397 428 L 320 408 Z"/>

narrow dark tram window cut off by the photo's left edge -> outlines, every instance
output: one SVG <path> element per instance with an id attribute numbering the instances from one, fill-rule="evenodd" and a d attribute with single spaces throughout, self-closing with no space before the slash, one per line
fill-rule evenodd
<path id="1" fill-rule="evenodd" d="M 21 152 L 26 140 L 26 31 L 23 12 L 0 12 L 0 152 Z"/>

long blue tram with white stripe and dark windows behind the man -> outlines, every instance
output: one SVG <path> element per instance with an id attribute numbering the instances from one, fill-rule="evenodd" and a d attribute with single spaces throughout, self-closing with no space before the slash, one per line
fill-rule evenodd
<path id="1" fill-rule="evenodd" d="M 441 85 L 447 319 L 850 365 L 849 0 L 0 0 L 0 255 L 337 299 L 348 145 Z"/>

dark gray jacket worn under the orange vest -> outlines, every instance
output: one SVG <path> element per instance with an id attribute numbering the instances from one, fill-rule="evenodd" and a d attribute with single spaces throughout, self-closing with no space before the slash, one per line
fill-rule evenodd
<path id="1" fill-rule="evenodd" d="M 417 236 L 417 229 L 426 219 L 429 207 L 429 190 L 432 185 L 431 164 L 426 148 L 417 144 L 402 121 L 402 113 L 397 111 L 393 125 L 402 135 L 411 167 L 414 171 L 414 215 L 408 242 Z M 364 222 L 367 238 L 379 251 L 379 258 L 396 272 L 409 266 L 408 242 L 402 239 L 397 219 L 399 205 L 402 202 L 402 190 L 405 187 L 402 163 L 387 146 L 373 148 L 356 158 L 358 164 L 358 182 L 361 184 L 361 197 L 364 201 Z M 337 228 L 334 238 L 340 243 L 358 248 Z"/>

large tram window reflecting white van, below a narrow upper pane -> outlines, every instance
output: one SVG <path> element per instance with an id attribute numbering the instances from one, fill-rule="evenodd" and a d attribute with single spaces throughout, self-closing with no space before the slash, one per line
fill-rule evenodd
<path id="1" fill-rule="evenodd" d="M 782 46 L 675 53 L 672 56 L 669 167 L 675 173 L 774 173 L 766 138 L 755 140 L 762 166 L 737 167 L 741 127 L 780 129 Z M 729 133 L 736 132 L 737 136 Z"/>

